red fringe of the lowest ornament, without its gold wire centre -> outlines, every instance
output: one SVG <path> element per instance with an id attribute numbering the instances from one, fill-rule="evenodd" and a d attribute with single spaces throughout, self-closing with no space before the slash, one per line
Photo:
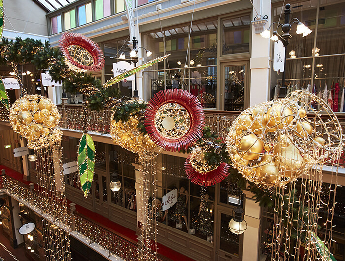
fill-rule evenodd
<path id="1" fill-rule="evenodd" d="M 227 163 L 222 162 L 216 169 L 206 173 L 200 173 L 193 168 L 190 163 L 190 156 L 188 156 L 184 163 L 184 168 L 188 179 L 194 184 L 200 186 L 212 186 L 221 182 L 228 176 L 230 166 Z"/>

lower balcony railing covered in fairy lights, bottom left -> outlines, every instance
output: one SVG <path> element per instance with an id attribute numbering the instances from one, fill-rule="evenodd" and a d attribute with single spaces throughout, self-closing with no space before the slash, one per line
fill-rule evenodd
<path id="1" fill-rule="evenodd" d="M 26 185 L 2 173 L 2 177 L 0 177 L 0 191 L 17 200 L 21 200 L 39 215 L 53 214 L 45 211 L 47 210 L 47 202 L 34 189 L 34 183 Z M 69 233 L 77 232 L 87 237 L 89 244 L 94 242 L 99 244 L 107 250 L 109 257 L 116 255 L 128 261 L 137 261 L 139 259 L 138 245 L 134 240 L 123 238 L 115 231 L 110 231 L 110 229 L 104 228 L 101 224 L 88 220 L 85 216 L 74 212 L 72 209 L 65 214 L 67 218 L 55 220 L 55 223 L 57 225 L 61 224 L 61 228 Z"/>

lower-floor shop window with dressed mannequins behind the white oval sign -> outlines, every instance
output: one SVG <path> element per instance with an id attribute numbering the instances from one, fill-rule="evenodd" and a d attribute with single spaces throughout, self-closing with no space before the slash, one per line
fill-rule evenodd
<path id="1" fill-rule="evenodd" d="M 191 183 L 185 176 L 183 157 L 163 154 L 161 160 L 164 169 L 157 173 L 156 198 L 152 202 L 157 221 L 213 242 L 214 186 L 200 187 Z M 162 197 L 173 189 L 177 190 L 177 202 L 162 211 Z"/>

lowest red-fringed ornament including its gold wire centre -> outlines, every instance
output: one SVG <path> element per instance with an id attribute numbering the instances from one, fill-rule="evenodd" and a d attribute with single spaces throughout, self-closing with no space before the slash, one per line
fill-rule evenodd
<path id="1" fill-rule="evenodd" d="M 212 186 L 224 180 L 228 176 L 229 165 L 220 163 L 210 165 L 204 158 L 205 151 L 197 147 L 184 164 L 188 179 L 200 186 Z"/>

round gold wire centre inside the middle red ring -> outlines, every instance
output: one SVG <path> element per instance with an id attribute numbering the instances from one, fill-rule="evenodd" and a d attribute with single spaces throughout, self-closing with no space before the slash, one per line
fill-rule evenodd
<path id="1" fill-rule="evenodd" d="M 163 137 L 179 139 L 189 131 L 190 118 L 183 106 L 177 103 L 167 103 L 157 110 L 155 124 Z"/>

